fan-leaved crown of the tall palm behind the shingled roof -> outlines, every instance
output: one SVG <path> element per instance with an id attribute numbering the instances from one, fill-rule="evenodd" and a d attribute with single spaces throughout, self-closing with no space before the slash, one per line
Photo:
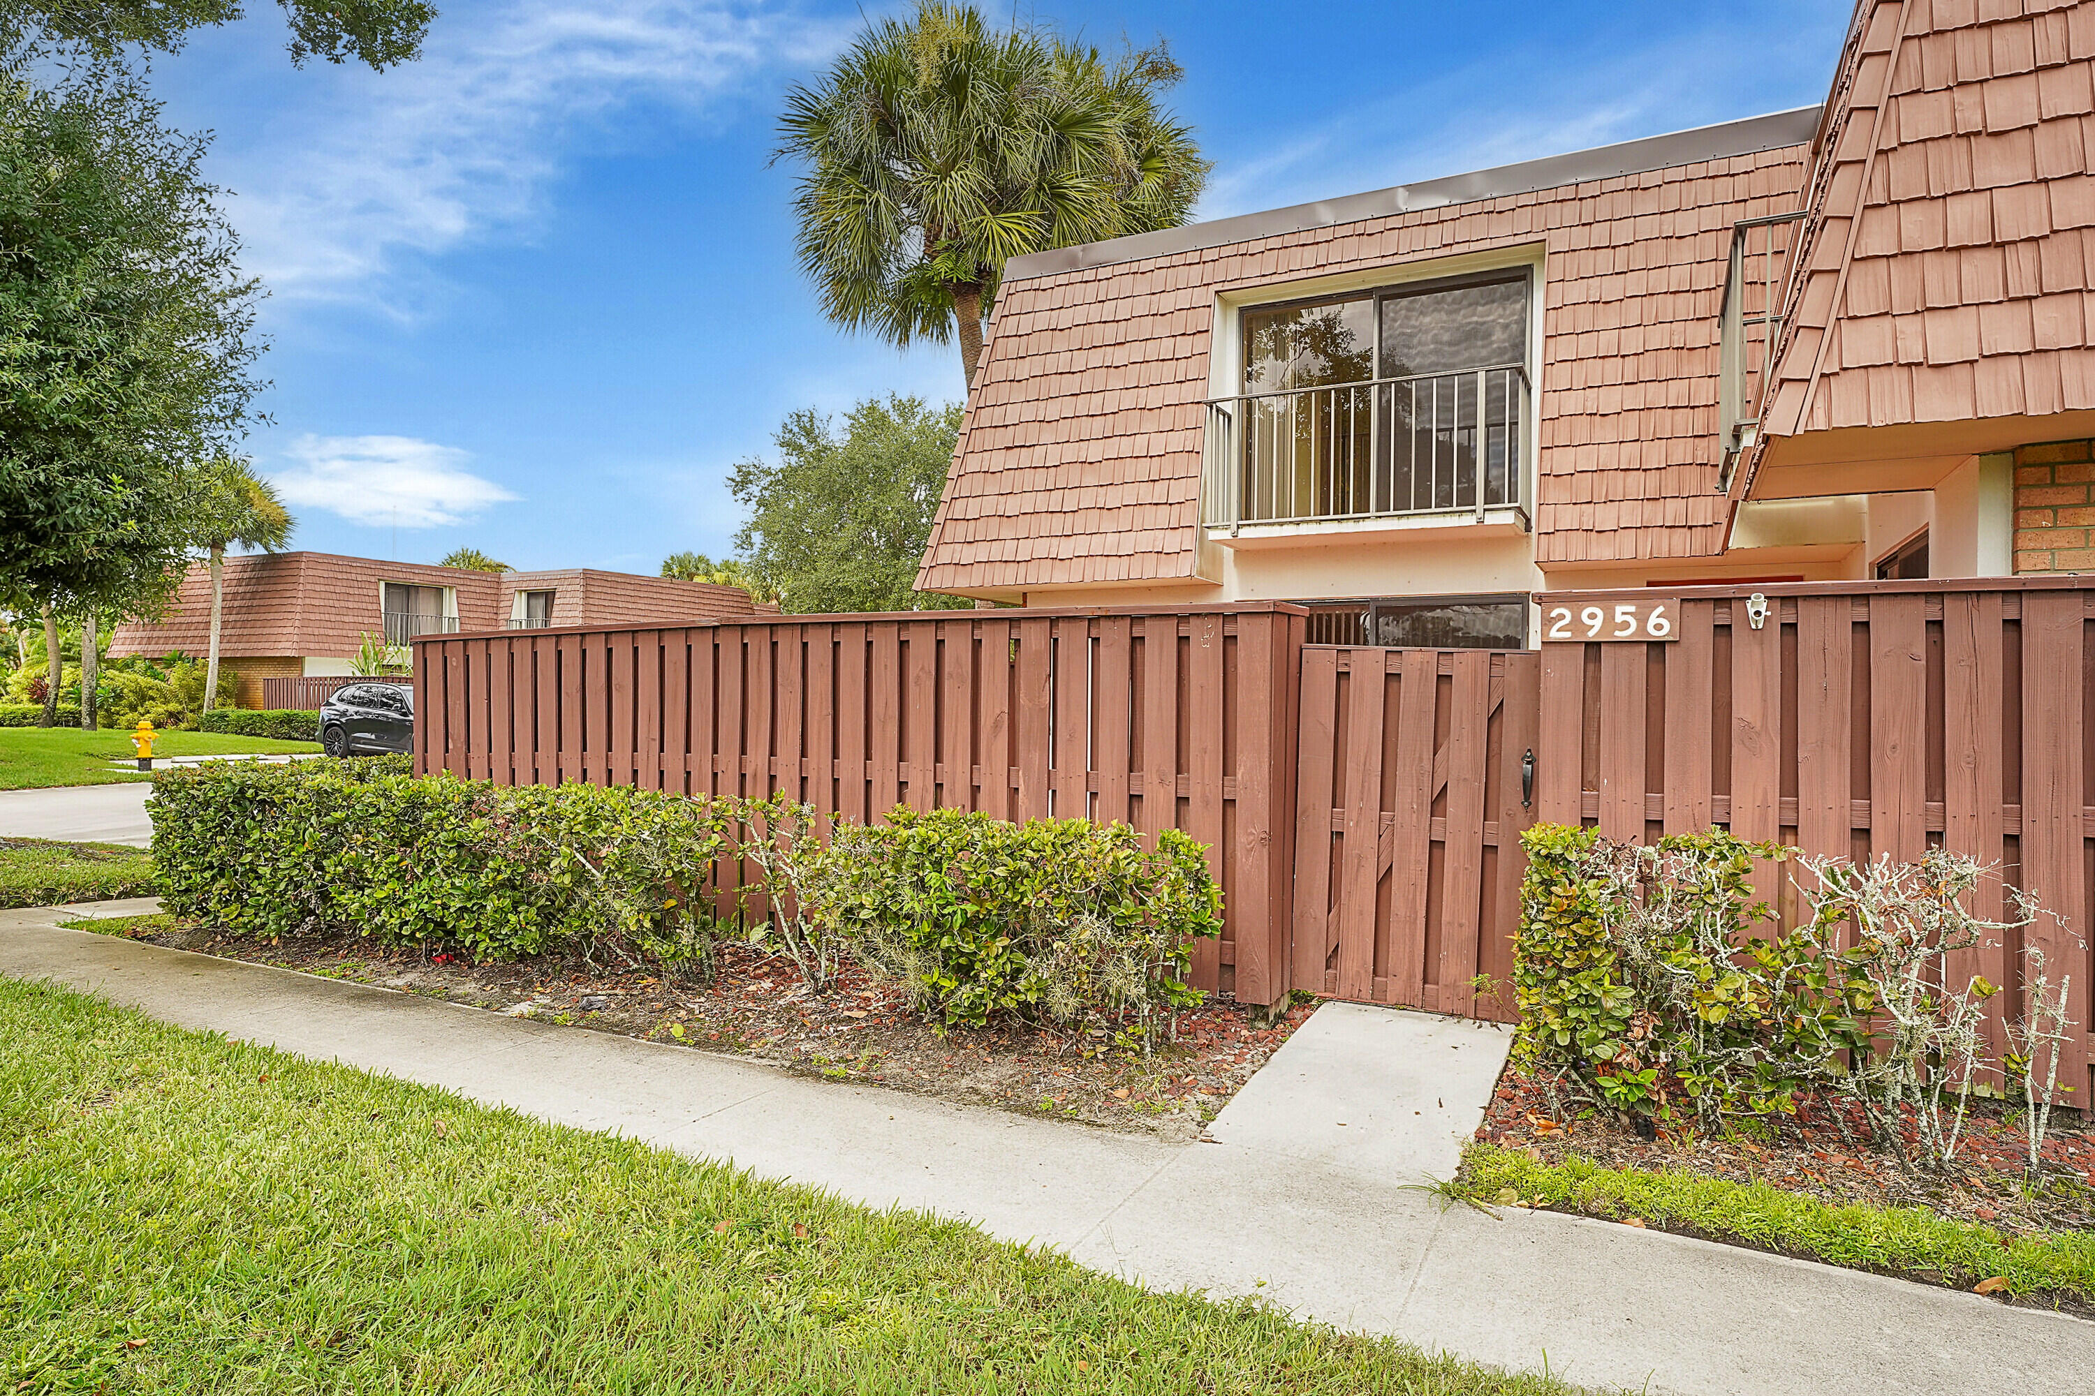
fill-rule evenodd
<path id="1" fill-rule="evenodd" d="M 786 96 L 800 266 L 846 329 L 947 343 L 974 387 L 1004 262 L 1186 222 L 1209 161 L 1156 103 L 1163 44 L 1110 63 L 1050 31 L 993 31 L 920 0 Z"/>

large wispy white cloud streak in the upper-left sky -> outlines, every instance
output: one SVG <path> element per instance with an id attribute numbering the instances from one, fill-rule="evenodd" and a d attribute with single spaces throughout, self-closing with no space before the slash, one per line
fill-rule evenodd
<path id="1" fill-rule="evenodd" d="M 402 253 L 528 222 L 564 159 L 610 140 L 616 109 L 696 113 L 834 44 L 828 25 L 737 0 L 444 6 L 423 59 L 388 73 L 253 69 L 283 96 L 270 121 L 222 138 L 214 172 L 237 190 L 243 266 L 274 297 L 411 314 Z"/>

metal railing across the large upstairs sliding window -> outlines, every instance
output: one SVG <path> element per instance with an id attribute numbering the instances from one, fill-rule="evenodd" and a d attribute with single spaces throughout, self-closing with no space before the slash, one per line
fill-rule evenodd
<path id="1" fill-rule="evenodd" d="M 1322 523 L 1521 504 L 1519 364 L 1207 404 L 1203 521 Z"/>

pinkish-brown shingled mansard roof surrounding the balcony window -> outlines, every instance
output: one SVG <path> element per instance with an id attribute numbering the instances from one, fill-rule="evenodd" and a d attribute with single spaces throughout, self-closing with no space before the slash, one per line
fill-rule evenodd
<path id="1" fill-rule="evenodd" d="M 1538 243 L 1538 561 L 1716 555 L 1730 228 L 1798 207 L 1804 161 L 1781 144 L 1008 278 L 918 586 L 1192 578 L 1219 293 Z"/>

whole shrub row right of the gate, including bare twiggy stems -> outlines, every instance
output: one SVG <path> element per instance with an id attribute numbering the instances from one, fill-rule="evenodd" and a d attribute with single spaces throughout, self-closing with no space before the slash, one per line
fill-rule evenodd
<path id="1" fill-rule="evenodd" d="M 2038 906 L 2007 890 L 2013 921 L 1971 913 L 1988 875 L 1965 854 L 1917 862 L 1802 858 L 1791 931 L 1766 929 L 1754 902 L 1760 858 L 1793 850 L 1728 833 L 1674 835 L 1655 848 L 1592 829 L 1523 835 L 1515 1059 L 1575 1095 L 1659 1128 L 1693 1118 L 1789 1113 L 1806 1090 L 1856 1101 L 1877 1143 L 1913 1164 L 1957 1155 L 1969 1093 L 1986 1076 L 2030 1107 L 2030 1170 L 2041 1172 L 2047 1111 L 2068 1032 L 2068 984 L 2034 942 L 2017 952 L 2026 1011 L 2009 1051 L 1990 1055 L 1984 1003 L 2001 990 L 1950 959 L 2015 944 Z"/>

